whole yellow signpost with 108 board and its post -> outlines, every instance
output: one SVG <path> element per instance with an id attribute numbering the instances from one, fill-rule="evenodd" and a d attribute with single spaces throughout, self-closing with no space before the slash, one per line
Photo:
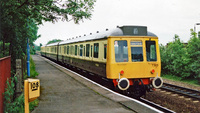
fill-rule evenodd
<path id="1" fill-rule="evenodd" d="M 29 113 L 29 102 L 34 101 L 39 96 L 40 96 L 40 80 L 39 79 L 24 80 L 25 113 Z"/>

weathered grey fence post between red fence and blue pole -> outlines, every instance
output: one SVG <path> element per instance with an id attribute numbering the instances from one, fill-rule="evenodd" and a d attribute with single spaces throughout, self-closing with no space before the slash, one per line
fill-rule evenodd
<path id="1" fill-rule="evenodd" d="M 16 85 L 16 96 L 19 97 L 22 90 L 22 62 L 21 59 L 16 59 L 16 74 L 15 76 L 17 77 L 17 85 Z"/>

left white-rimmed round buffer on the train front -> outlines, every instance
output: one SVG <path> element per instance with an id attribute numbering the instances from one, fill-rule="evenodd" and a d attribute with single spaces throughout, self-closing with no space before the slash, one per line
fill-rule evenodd
<path id="1" fill-rule="evenodd" d="M 130 83 L 127 78 L 121 78 L 118 82 L 118 87 L 121 90 L 127 90 L 129 86 L 130 86 Z"/>

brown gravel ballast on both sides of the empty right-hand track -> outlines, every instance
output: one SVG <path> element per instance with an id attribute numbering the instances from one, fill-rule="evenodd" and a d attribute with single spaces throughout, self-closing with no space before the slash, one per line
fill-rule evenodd
<path id="1" fill-rule="evenodd" d="M 164 79 L 165 83 L 170 83 L 174 85 L 179 85 L 182 87 L 192 88 L 195 90 L 200 90 L 200 87 L 193 86 L 187 83 L 172 81 Z M 167 92 L 164 90 L 157 89 L 154 92 L 147 93 L 145 99 L 157 103 L 163 107 L 171 109 L 177 113 L 199 113 L 200 112 L 200 102 L 197 100 L 192 100 L 191 98 L 184 97 L 178 94 Z"/>

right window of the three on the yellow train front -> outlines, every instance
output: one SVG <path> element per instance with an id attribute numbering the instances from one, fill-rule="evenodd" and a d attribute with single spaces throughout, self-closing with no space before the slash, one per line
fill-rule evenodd
<path id="1" fill-rule="evenodd" d="M 146 54 L 147 61 L 157 61 L 155 41 L 146 41 Z"/>

